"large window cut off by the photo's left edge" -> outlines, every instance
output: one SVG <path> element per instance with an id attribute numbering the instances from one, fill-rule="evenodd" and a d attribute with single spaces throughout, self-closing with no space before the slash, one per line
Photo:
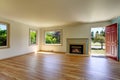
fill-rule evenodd
<path id="1" fill-rule="evenodd" d="M 9 24 L 0 22 L 0 48 L 9 47 Z"/>

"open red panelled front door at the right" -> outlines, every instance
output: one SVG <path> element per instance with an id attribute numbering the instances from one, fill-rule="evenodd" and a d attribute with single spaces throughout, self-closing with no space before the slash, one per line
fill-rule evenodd
<path id="1" fill-rule="evenodd" d="M 118 56 L 117 23 L 107 26 L 105 34 L 106 34 L 106 55 L 117 60 Z"/>

